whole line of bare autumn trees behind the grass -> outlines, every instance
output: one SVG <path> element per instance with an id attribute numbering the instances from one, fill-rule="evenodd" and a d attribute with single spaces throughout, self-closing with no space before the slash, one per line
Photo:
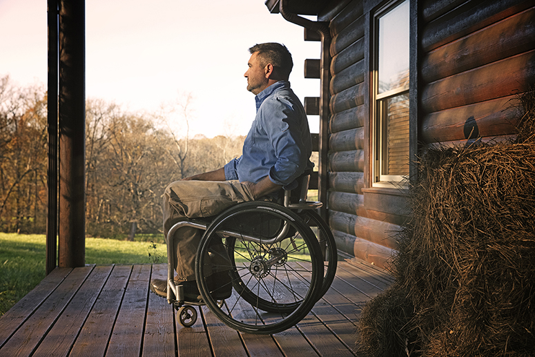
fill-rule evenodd
<path id="1" fill-rule="evenodd" d="M 46 232 L 46 103 L 41 86 L 0 77 L 0 231 Z M 167 184 L 240 155 L 244 137 L 190 138 L 191 106 L 191 95 L 158 113 L 86 101 L 86 235 L 160 232 Z"/>

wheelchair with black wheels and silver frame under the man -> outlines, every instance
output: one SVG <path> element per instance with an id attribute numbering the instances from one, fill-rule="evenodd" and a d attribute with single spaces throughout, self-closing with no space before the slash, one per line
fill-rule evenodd
<path id="1" fill-rule="evenodd" d="M 281 305 L 281 304 L 276 304 L 275 302 L 272 303 L 270 301 L 263 300 L 262 298 L 259 298 L 258 296 L 255 296 L 254 293 L 252 294 L 253 298 L 251 298 L 251 296 L 249 296 L 249 298 L 244 298 L 244 300 L 251 303 L 251 306 L 253 307 L 253 309 L 260 309 L 262 311 L 271 310 L 271 312 L 277 311 L 278 313 L 283 314 L 284 316 L 286 315 L 293 316 L 293 312 L 295 312 L 294 310 L 300 309 L 301 311 L 298 311 L 298 313 L 296 313 L 296 315 L 292 317 L 291 321 L 278 322 L 278 323 L 275 323 L 273 327 L 264 327 L 264 326 L 250 327 L 249 325 L 246 325 L 246 324 L 244 325 L 241 322 L 236 322 L 232 319 L 228 321 L 228 319 L 226 319 L 225 316 L 222 316 L 223 317 L 222 322 L 224 322 L 226 325 L 234 329 L 253 333 L 253 334 L 273 334 L 279 331 L 283 331 L 284 329 L 287 329 L 295 325 L 295 323 L 299 322 L 299 320 L 301 320 L 301 318 L 304 317 L 304 315 L 306 315 L 310 311 L 314 303 L 324 295 L 327 289 L 329 289 L 329 286 L 335 275 L 337 250 L 335 247 L 334 238 L 332 236 L 330 229 L 328 228 L 328 225 L 320 218 L 319 215 L 313 212 L 314 209 L 318 209 L 322 206 L 322 202 L 307 201 L 309 179 L 310 179 L 310 176 L 308 174 L 300 177 L 300 180 L 298 182 L 299 183 L 298 188 L 295 189 L 298 191 L 297 201 L 293 200 L 293 197 L 292 197 L 293 191 L 284 191 L 283 204 L 276 204 L 276 209 L 274 208 L 272 211 L 279 211 L 277 213 L 278 215 L 283 215 L 283 216 L 291 218 L 291 221 L 294 222 L 294 224 L 298 224 L 298 226 L 300 227 L 306 225 L 308 228 L 308 231 L 310 231 L 309 226 L 308 226 L 309 224 L 308 221 L 311 220 L 313 221 L 313 223 L 315 223 L 318 226 L 318 229 L 320 230 L 319 234 L 325 236 L 324 243 L 327 245 L 327 248 L 329 249 L 329 262 L 327 265 L 327 271 L 325 271 L 325 266 L 323 268 L 320 267 L 319 257 L 311 258 L 312 279 L 314 279 L 314 274 L 318 275 L 321 273 L 321 278 L 319 280 L 315 280 L 315 281 L 320 282 L 320 287 L 311 286 L 309 289 L 313 290 L 313 293 L 307 293 L 307 295 L 302 300 L 298 302 L 294 302 L 293 304 Z M 200 293 L 204 302 L 201 303 L 201 302 L 184 301 L 183 288 L 182 286 L 175 284 L 175 280 L 174 280 L 175 271 L 173 267 L 173 259 L 176 256 L 176 251 L 174 249 L 175 232 L 177 231 L 177 229 L 180 229 L 184 226 L 193 227 L 195 229 L 202 229 L 205 231 L 201 239 L 200 247 L 197 250 L 197 258 L 196 258 L 197 264 L 198 264 L 198 261 L 200 260 L 200 255 L 202 254 L 201 248 L 203 246 L 203 242 L 205 240 L 210 239 L 211 235 L 213 234 L 222 235 L 226 239 L 235 238 L 235 240 L 239 239 L 239 240 L 246 241 L 246 242 L 254 242 L 257 244 L 263 244 L 264 246 L 271 246 L 273 244 L 278 244 L 282 240 L 288 238 L 287 234 L 290 231 L 290 225 L 291 225 L 289 224 L 290 220 L 285 220 L 284 224 L 282 225 L 282 229 L 278 231 L 278 234 L 274 238 L 270 238 L 270 239 L 266 239 L 263 237 L 259 238 L 258 236 L 255 236 L 252 234 L 244 234 L 240 231 L 233 230 L 233 229 L 218 229 L 217 231 L 213 232 L 213 229 L 211 229 L 211 227 L 213 228 L 214 222 L 219 224 L 220 222 L 224 221 L 228 217 L 228 215 L 226 214 L 229 211 L 233 214 L 236 214 L 236 212 L 239 213 L 240 206 L 244 204 L 245 205 L 249 204 L 249 206 L 251 206 L 253 205 L 254 202 L 256 202 L 258 206 L 261 206 L 260 208 L 266 209 L 266 213 L 269 211 L 269 205 L 273 205 L 271 203 L 268 204 L 262 201 L 243 202 L 240 204 L 236 204 L 235 206 L 232 206 L 230 209 L 226 209 L 220 215 L 218 215 L 217 218 L 215 218 L 214 220 L 211 220 L 211 222 L 204 222 L 202 220 L 195 220 L 195 219 L 185 220 L 185 221 L 177 222 L 168 231 L 168 234 L 167 234 L 167 256 L 168 256 L 167 301 L 169 304 L 173 304 L 175 308 L 179 310 L 177 312 L 177 316 L 179 317 L 179 322 L 181 323 L 181 325 L 188 327 L 195 323 L 195 320 L 197 318 L 197 311 L 195 311 L 195 309 L 193 309 L 193 307 L 191 307 L 190 305 L 207 305 L 208 308 L 211 309 L 211 311 L 216 312 L 214 311 L 214 309 L 217 309 L 218 307 L 222 307 L 222 304 L 224 302 L 217 302 L 217 306 L 216 306 L 215 303 L 212 301 L 213 299 L 211 298 L 211 296 L 207 296 L 209 295 L 209 293 L 206 293 L 206 291 L 202 289 L 202 286 L 201 286 L 202 283 L 199 282 L 201 279 L 198 276 L 197 276 L 197 285 L 199 285 L 199 288 L 200 288 L 199 290 L 200 290 Z M 305 211 L 308 213 L 303 213 Z M 298 213 L 304 214 L 304 216 L 300 216 Z M 275 213 L 270 212 L 269 214 L 275 214 Z M 307 218 L 307 222 L 305 222 L 304 218 Z M 299 220 L 300 222 L 298 222 Z M 300 232 L 301 231 L 304 232 L 304 235 L 307 235 L 307 239 L 305 240 L 305 242 L 307 242 L 308 244 L 307 247 L 309 247 L 309 251 L 311 252 L 311 255 L 312 255 L 312 252 L 315 252 L 313 253 L 313 255 L 322 255 L 322 247 L 320 247 L 320 243 L 318 242 L 317 239 L 311 238 L 312 235 L 310 233 L 312 232 L 310 231 L 309 233 L 307 233 L 308 231 L 306 231 L 306 229 L 304 228 L 300 228 Z M 295 243 L 293 244 L 295 246 Z M 278 258 L 276 256 L 275 258 L 271 258 L 271 263 L 269 264 L 277 264 L 276 262 L 277 259 Z M 260 262 L 258 264 L 260 264 Z M 267 264 L 267 263 L 264 263 L 264 264 Z M 234 269 L 236 269 L 235 265 L 233 267 Z M 271 265 L 269 268 L 271 268 Z M 196 268 L 196 274 L 197 274 L 198 269 L 199 268 Z M 240 294 L 240 297 L 242 297 L 242 293 L 244 293 L 245 295 L 245 290 L 241 290 L 240 292 L 238 292 L 236 287 L 233 287 L 233 289 L 235 289 L 236 293 Z M 247 289 L 247 291 L 249 292 L 249 295 L 251 295 L 251 291 L 249 289 Z M 262 300 L 263 304 L 258 304 L 258 303 L 255 303 L 254 301 L 251 301 L 251 300 L 254 300 L 254 298 L 256 298 L 256 300 L 259 300 L 259 299 Z M 306 302 L 307 307 L 303 306 L 302 308 L 299 308 L 299 306 L 302 305 L 303 302 Z M 220 313 L 220 317 L 221 317 L 221 313 Z M 284 317 L 282 319 L 284 320 Z"/>

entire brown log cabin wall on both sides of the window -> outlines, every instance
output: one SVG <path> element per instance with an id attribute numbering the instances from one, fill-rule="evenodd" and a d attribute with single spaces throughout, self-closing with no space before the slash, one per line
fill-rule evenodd
<path id="1" fill-rule="evenodd" d="M 318 14 L 332 37 L 329 225 L 340 251 L 380 267 L 409 214 L 407 190 L 371 185 L 370 34 L 387 2 L 330 1 Z M 512 135 L 509 100 L 535 83 L 534 14 L 533 1 L 411 1 L 411 153 Z"/>

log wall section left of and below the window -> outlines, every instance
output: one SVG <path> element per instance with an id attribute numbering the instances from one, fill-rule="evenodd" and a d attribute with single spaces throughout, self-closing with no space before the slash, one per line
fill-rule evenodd
<path id="1" fill-rule="evenodd" d="M 338 249 L 380 267 L 396 249 L 404 195 L 369 187 L 369 10 L 379 1 L 332 1 L 318 16 L 331 30 L 329 86 L 329 225 Z M 386 199 L 385 199 L 386 198 Z M 406 212 L 402 212 L 406 213 Z"/>

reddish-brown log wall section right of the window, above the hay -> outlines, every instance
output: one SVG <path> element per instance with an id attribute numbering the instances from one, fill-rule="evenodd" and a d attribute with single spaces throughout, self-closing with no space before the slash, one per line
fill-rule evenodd
<path id="1" fill-rule="evenodd" d="M 420 140 L 503 139 L 514 93 L 535 84 L 533 1 L 425 1 Z"/>

